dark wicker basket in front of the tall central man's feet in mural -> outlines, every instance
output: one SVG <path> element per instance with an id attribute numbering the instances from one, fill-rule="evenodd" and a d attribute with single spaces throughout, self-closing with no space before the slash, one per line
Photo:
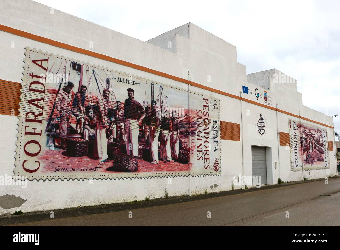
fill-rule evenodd
<path id="1" fill-rule="evenodd" d="M 110 167 L 113 171 L 135 172 L 138 170 L 137 156 L 116 153 L 113 155 L 113 166 Z"/>

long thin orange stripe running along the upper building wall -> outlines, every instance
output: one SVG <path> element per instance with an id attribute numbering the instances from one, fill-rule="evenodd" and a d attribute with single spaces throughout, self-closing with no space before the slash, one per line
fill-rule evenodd
<path id="1" fill-rule="evenodd" d="M 72 46 L 72 45 L 68 45 L 68 44 L 65 44 L 65 43 L 61 43 L 61 42 L 58 42 L 58 41 L 55 41 L 55 40 L 52 40 L 52 39 L 48 39 L 46 37 L 34 35 L 34 34 L 31 34 L 31 33 L 25 32 L 25 31 L 21 31 L 21 30 L 17 30 L 17 29 L 8 27 L 8 26 L 4 26 L 2 24 L 0 24 L 0 30 L 7 32 L 7 33 L 17 35 L 17 36 L 21 36 L 21 37 L 25 37 L 25 38 L 28 38 L 28 39 L 31 39 L 31 40 L 35 40 L 35 41 L 38 41 L 40 43 L 49 44 L 49 45 L 59 47 L 59 48 L 62 48 L 62 49 L 67 49 L 67 50 L 74 51 L 74 52 L 77 52 L 77 53 L 81 53 L 81 54 L 84 54 L 84 55 L 96 57 L 96 58 L 99 58 L 99 59 L 102 59 L 102 60 L 105 60 L 105 61 L 108 61 L 108 62 L 113 62 L 113 63 L 117 63 L 117 64 L 120 64 L 120 65 L 123 65 L 123 66 L 126 66 L 126 67 L 138 69 L 138 70 L 148 72 L 148 73 L 151 73 L 151 74 L 155 74 L 157 76 L 168 78 L 168 79 L 171 79 L 171 80 L 174 80 L 174 81 L 177 81 L 177 82 L 191 84 L 192 86 L 195 86 L 195 87 L 198 87 L 198 88 L 202 88 L 202 89 L 212 91 L 214 93 L 221 94 L 221 95 L 224 95 L 224 96 L 228 96 L 228 97 L 231 97 L 231 98 L 235 98 L 235 99 L 238 99 L 238 100 L 244 100 L 245 102 L 249 102 L 249 103 L 252 103 L 254 105 L 266 107 L 267 109 L 271 109 L 271 110 L 276 111 L 276 108 L 274 108 L 274 107 L 271 107 L 271 106 L 268 106 L 268 105 L 265 105 L 265 104 L 262 104 L 262 103 L 257 103 L 255 101 L 251 101 L 251 100 L 248 100 L 248 99 L 244 99 L 244 98 L 241 98 L 239 96 L 224 92 L 222 90 L 214 89 L 214 88 L 211 88 L 211 87 L 199 84 L 199 83 L 191 82 L 191 81 L 188 81 L 188 80 L 180 78 L 180 77 L 172 76 L 170 74 L 167 74 L 167 73 L 164 73 L 164 72 L 161 72 L 161 71 L 157 71 L 157 70 L 154 70 L 154 69 L 150 69 L 150 68 L 147 68 L 147 67 L 144 67 L 144 66 L 140 66 L 140 65 L 137 65 L 137 64 L 134 64 L 134 63 L 129 63 L 129 62 L 126 62 L 126 61 L 123 61 L 123 60 L 120 60 L 120 59 L 117 59 L 117 58 L 114 58 L 114 57 L 111 57 L 111 56 L 103 55 L 103 54 L 96 53 L 96 52 L 93 52 L 93 51 L 90 51 L 90 50 L 82 49 L 82 48 L 75 47 L 75 46 Z M 289 112 L 286 112 L 286 111 L 283 111 L 283 110 L 279 110 L 279 109 L 277 109 L 277 110 L 280 113 L 284 113 L 284 114 L 287 114 L 287 115 L 291 115 L 291 116 L 300 118 L 300 116 L 298 116 L 298 115 L 294 115 L 292 113 L 289 113 Z M 313 120 L 303 118 L 303 117 L 301 117 L 301 119 L 311 121 L 311 122 L 314 122 L 314 123 L 317 123 L 317 124 L 320 124 L 320 125 L 334 129 L 334 127 L 329 126 L 327 124 L 323 124 L 323 123 L 313 121 Z"/>

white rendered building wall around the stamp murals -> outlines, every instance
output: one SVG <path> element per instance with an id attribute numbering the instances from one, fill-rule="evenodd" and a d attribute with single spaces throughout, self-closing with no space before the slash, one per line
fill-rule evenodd
<path id="1" fill-rule="evenodd" d="M 188 79 L 204 86 L 212 87 L 239 96 L 242 85 L 248 84 L 245 66 L 237 62 L 236 47 L 192 23 L 184 24 L 172 31 L 166 32 L 147 42 L 126 36 L 86 20 L 54 10 L 34 1 L 5 0 L 0 3 L 1 24 L 23 30 L 32 34 L 57 40 L 65 44 L 91 50 L 100 54 L 115 57 L 120 60 L 145 66 L 176 77 Z M 168 48 L 168 41 L 172 47 Z M 14 48 L 11 43 L 14 42 Z M 93 44 L 93 47 L 90 45 Z M 24 47 L 41 49 L 47 52 L 64 55 L 83 62 L 129 72 L 138 77 L 164 82 L 188 89 L 188 85 L 163 78 L 148 72 L 128 68 L 119 64 L 90 57 L 85 54 L 47 45 L 35 40 L 23 38 L 6 32 L 0 32 L 0 79 L 21 82 Z M 274 86 L 272 80 L 268 86 Z M 267 85 L 266 85 L 267 86 Z M 203 91 L 191 87 L 193 91 Z M 332 124 L 332 119 L 319 112 L 302 106 L 301 93 L 291 86 L 275 85 L 270 88 L 279 109 L 298 114 L 322 123 Z M 205 91 L 209 93 L 209 91 Z M 212 93 L 221 100 L 221 120 L 241 124 L 240 100 Z M 297 103 L 297 105 L 296 105 Z M 244 134 L 244 175 L 251 175 L 251 145 L 271 148 L 268 165 L 272 166 L 269 184 L 277 183 L 278 169 L 273 169 L 278 161 L 276 112 L 251 103 L 242 103 L 243 134 Z M 274 104 L 275 105 L 275 104 Z M 298 106 L 298 107 L 297 107 Z M 246 110 L 250 115 L 246 116 Z M 256 136 L 255 117 L 258 113 L 265 114 L 268 122 L 267 134 L 263 138 Z M 288 132 L 288 115 L 279 113 L 279 131 Z M 296 118 L 295 118 L 296 119 Z M 0 115 L 1 170 L 0 175 L 12 175 L 17 118 Z M 319 126 L 320 127 L 320 126 Z M 328 140 L 333 141 L 332 129 L 328 128 Z M 233 176 L 242 173 L 242 138 L 241 141 L 221 140 L 221 176 L 192 177 L 192 193 L 222 191 L 231 189 Z M 280 177 L 284 181 L 302 179 L 301 172 L 291 172 L 289 168 L 289 151 L 280 146 Z M 334 156 L 331 156 L 334 159 Z M 332 159 L 331 159 L 332 161 Z M 326 177 L 335 174 L 334 165 L 327 170 L 312 170 L 309 179 Z M 267 173 L 268 174 L 268 173 Z M 32 181 L 27 188 L 21 186 L 2 186 L 0 196 L 13 194 L 27 200 L 20 206 L 23 212 L 65 207 L 105 204 L 112 202 L 132 201 L 150 196 L 164 196 L 165 187 L 170 196 L 188 193 L 188 177 L 172 178 L 168 184 L 167 178 L 152 178 L 138 180 L 94 180 L 89 181 Z M 240 188 L 236 186 L 235 188 Z M 0 214 L 14 212 L 12 209 L 0 208 Z"/>

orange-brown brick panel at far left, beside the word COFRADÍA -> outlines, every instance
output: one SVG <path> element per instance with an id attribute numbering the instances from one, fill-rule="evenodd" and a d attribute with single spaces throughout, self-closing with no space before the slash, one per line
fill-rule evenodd
<path id="1" fill-rule="evenodd" d="M 10 82 L 0 80 L 0 114 L 11 115 L 14 110 L 14 115 L 19 115 L 21 84 L 18 82 Z"/>

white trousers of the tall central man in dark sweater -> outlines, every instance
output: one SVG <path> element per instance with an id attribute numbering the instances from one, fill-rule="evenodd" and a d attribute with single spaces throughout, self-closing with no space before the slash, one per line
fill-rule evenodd
<path id="1" fill-rule="evenodd" d="M 134 119 L 126 118 L 124 127 L 124 141 L 126 153 L 138 157 L 139 125 Z"/>

